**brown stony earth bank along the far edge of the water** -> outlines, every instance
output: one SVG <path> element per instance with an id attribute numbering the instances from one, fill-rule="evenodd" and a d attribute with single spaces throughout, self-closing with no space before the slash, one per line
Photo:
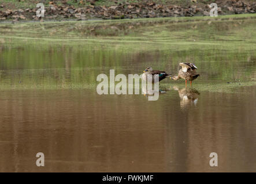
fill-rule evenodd
<path id="1" fill-rule="evenodd" d="M 215 1 L 218 5 L 218 14 L 255 13 L 256 2 L 245 0 Z M 36 1 L 35 1 L 36 4 Z M 88 20 L 88 19 L 123 19 L 123 18 L 154 18 L 154 17 L 192 17 L 209 16 L 210 3 L 191 0 L 187 4 L 172 5 L 154 1 L 114 2 L 114 5 L 97 6 L 95 1 L 87 5 L 75 7 L 65 2 L 45 4 L 44 17 L 36 17 L 38 8 L 13 9 L 15 6 L 0 4 L 0 21 L 5 20 Z M 11 8 L 12 7 L 12 8 Z"/>

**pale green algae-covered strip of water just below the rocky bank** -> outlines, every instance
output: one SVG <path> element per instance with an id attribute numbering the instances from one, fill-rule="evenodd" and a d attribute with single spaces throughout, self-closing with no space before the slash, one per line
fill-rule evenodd
<path id="1" fill-rule="evenodd" d="M 250 18 L 242 21 L 244 18 Z M 212 48 L 214 45 L 225 49 L 235 49 L 239 45 L 251 49 L 255 41 L 254 18 L 256 14 L 240 14 L 219 17 L 180 17 L 154 18 L 138 20 L 109 20 L 84 22 L 27 22 L 24 24 L 0 24 L 0 38 L 13 40 L 18 44 L 26 40 L 28 44 L 109 44 L 135 51 L 145 47 L 146 51 L 157 48 L 192 49 L 198 47 Z M 230 22 L 232 24 L 226 24 Z M 233 29 L 236 22 L 244 22 L 248 28 Z M 205 24 L 211 22 L 210 25 Z M 246 23 L 248 22 L 248 23 Z M 139 23 L 140 25 L 137 25 Z M 246 25 L 245 25 L 246 24 Z M 228 27 L 228 25 L 230 25 Z M 112 27 L 115 27 L 113 29 Z M 129 29 L 132 26 L 132 29 Z M 194 28 L 194 27 L 197 28 Z M 222 27 L 221 27 L 222 26 Z M 117 28 L 117 29 L 116 29 Z M 94 29 L 91 31 L 91 29 Z M 58 31 L 57 31 L 58 30 Z M 238 31 L 236 31 L 238 30 Z M 212 34 L 209 37 L 209 34 Z M 9 40 L 9 41 L 10 41 Z M 196 40 L 196 41 L 193 41 Z M 241 42 L 241 40 L 243 40 Z"/>

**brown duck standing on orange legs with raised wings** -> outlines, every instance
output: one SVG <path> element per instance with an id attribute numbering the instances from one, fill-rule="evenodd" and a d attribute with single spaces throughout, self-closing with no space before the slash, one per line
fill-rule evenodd
<path id="1" fill-rule="evenodd" d="M 190 86 L 192 86 L 192 81 L 194 81 L 200 74 L 196 74 L 197 67 L 193 63 L 180 63 L 181 69 L 179 70 L 178 76 L 170 76 L 170 79 L 177 81 L 178 79 L 185 80 L 185 86 L 187 86 L 187 81 L 190 81 Z"/>

